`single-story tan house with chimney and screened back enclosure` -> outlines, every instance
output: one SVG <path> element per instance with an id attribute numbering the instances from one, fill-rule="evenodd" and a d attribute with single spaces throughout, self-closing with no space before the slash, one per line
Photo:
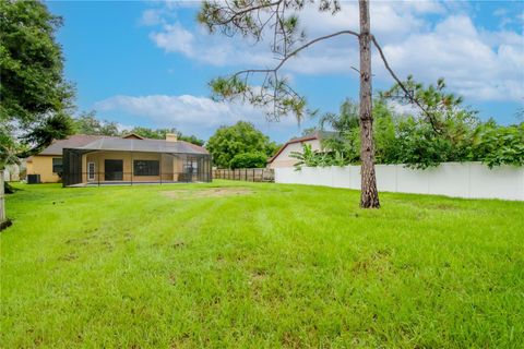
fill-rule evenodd
<path id="1" fill-rule="evenodd" d="M 115 183 L 211 181 L 211 155 L 198 145 L 178 141 L 72 135 L 56 141 L 27 163 L 27 174 L 63 186 Z"/>

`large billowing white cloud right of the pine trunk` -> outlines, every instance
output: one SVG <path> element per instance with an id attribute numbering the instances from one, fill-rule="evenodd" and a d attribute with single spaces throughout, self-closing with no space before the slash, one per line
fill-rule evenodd
<path id="1" fill-rule="evenodd" d="M 401 75 L 436 81 L 445 77 L 458 94 L 484 100 L 519 100 L 524 96 L 524 38 L 496 35 L 498 45 L 475 28 L 467 16 L 449 16 L 434 31 L 385 45 L 390 63 Z M 520 43 L 520 44 L 519 44 Z"/>

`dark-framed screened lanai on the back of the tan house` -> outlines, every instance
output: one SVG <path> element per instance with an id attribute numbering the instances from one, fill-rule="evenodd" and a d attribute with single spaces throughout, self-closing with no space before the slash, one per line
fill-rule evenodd
<path id="1" fill-rule="evenodd" d="M 99 139 L 62 154 L 63 186 L 211 182 L 211 155 L 183 141 Z"/>

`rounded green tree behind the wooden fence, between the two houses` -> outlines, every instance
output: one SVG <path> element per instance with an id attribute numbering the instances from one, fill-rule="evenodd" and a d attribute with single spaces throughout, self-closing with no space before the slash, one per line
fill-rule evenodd
<path id="1" fill-rule="evenodd" d="M 252 123 L 239 121 L 231 127 L 218 128 L 207 141 L 206 148 L 213 156 L 215 166 L 228 168 L 238 154 L 262 153 L 271 156 L 276 145 Z"/>

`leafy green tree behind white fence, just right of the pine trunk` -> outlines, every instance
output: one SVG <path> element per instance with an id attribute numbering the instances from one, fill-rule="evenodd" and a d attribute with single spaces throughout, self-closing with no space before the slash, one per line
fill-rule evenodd
<path id="1" fill-rule="evenodd" d="M 389 149 L 385 163 L 395 161 L 410 167 L 426 168 L 443 161 L 464 161 L 471 158 L 474 130 L 478 127 L 477 112 L 463 106 L 463 98 L 445 91 L 445 82 L 425 86 L 408 76 L 404 85 L 394 85 L 380 94 L 381 100 L 419 106 L 421 112 L 400 120 L 396 125 L 396 154 Z M 408 88 L 412 98 L 406 98 Z M 385 151 L 385 148 L 384 148 Z"/>

